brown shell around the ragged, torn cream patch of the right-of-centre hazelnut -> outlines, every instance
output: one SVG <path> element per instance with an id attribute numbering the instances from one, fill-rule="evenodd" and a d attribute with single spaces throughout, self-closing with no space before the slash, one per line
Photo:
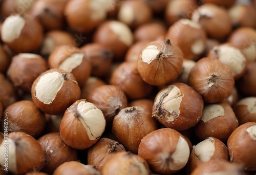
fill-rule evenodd
<path id="1" fill-rule="evenodd" d="M 169 87 L 171 86 L 177 87 L 180 90 L 178 95 L 182 95 L 179 104 L 179 114 L 173 114 L 175 112 L 170 113 L 165 109 L 165 104 L 161 100 L 164 100 L 172 92 L 167 91 L 165 94 L 162 94 L 163 91 L 166 91 L 166 89 L 163 89 L 157 94 L 157 96 L 161 95 L 160 101 L 157 101 L 157 96 L 155 98 L 152 116 L 166 127 L 175 130 L 186 130 L 195 126 L 203 112 L 204 103 L 202 97 L 193 88 L 184 83 L 173 83 Z M 168 119 L 173 116 L 175 116 L 173 120 Z"/>

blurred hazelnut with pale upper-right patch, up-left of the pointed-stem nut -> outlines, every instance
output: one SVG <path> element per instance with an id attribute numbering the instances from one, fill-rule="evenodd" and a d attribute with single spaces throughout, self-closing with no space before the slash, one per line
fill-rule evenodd
<path id="1" fill-rule="evenodd" d="M 127 49 L 133 44 L 133 33 L 124 23 L 109 20 L 102 23 L 93 35 L 93 42 L 101 43 L 114 53 L 114 60 L 123 60 Z"/>

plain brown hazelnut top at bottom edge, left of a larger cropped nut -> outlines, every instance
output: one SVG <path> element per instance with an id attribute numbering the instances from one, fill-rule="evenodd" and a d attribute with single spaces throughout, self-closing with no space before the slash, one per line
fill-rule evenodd
<path id="1" fill-rule="evenodd" d="M 53 172 L 53 175 L 68 174 L 100 175 L 100 172 L 92 165 L 84 165 L 77 161 L 65 162 Z"/>

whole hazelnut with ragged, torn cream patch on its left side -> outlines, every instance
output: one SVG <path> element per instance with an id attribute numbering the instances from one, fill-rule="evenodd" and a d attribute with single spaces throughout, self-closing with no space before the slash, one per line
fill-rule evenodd
<path id="1" fill-rule="evenodd" d="M 186 130 L 199 122 L 203 106 L 196 90 L 184 83 L 173 83 L 156 95 L 152 115 L 166 127 Z"/>

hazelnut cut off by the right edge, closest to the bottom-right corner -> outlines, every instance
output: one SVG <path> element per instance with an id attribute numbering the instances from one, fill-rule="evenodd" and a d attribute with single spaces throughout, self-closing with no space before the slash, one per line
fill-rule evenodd
<path id="1" fill-rule="evenodd" d="M 245 170 L 256 170 L 256 123 L 247 122 L 233 131 L 227 140 L 230 161 L 241 164 Z M 243 154 L 241 154 L 241 151 Z"/>

